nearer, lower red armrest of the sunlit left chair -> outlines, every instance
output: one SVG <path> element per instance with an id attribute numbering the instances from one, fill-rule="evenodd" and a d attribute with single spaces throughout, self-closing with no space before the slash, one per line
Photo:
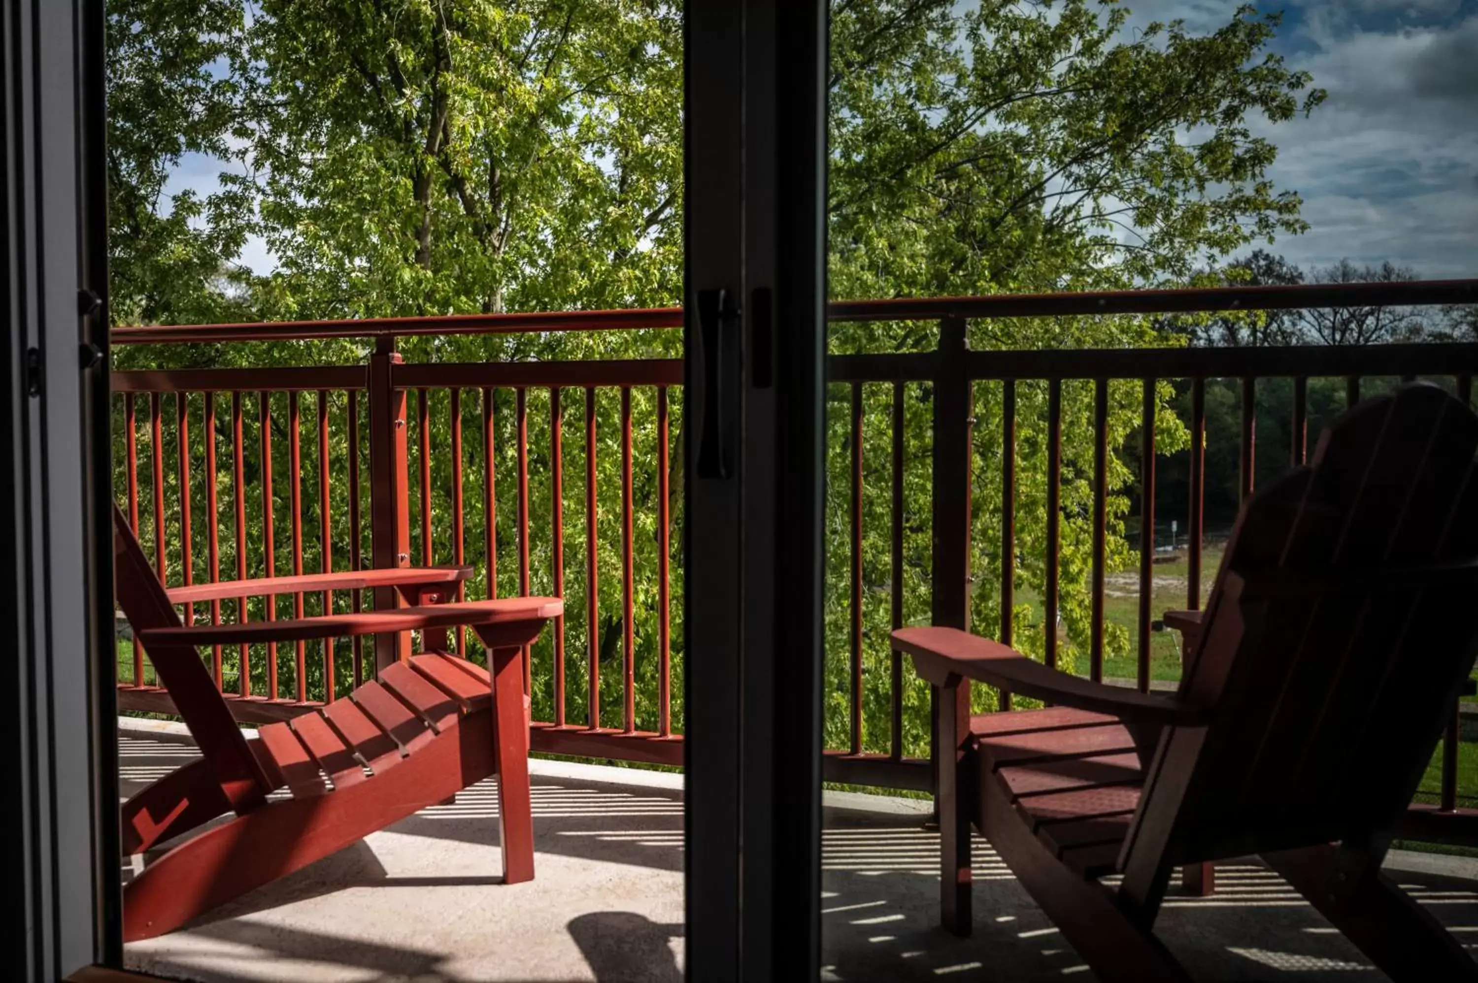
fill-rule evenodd
<path id="1" fill-rule="evenodd" d="M 309 642 L 312 639 L 344 639 L 390 631 L 420 631 L 470 625 L 479 630 L 501 624 L 522 625 L 554 618 L 565 612 L 559 597 L 500 597 L 497 600 L 467 600 L 449 605 L 398 608 L 395 610 L 361 610 L 316 618 L 284 621 L 248 621 L 226 625 L 189 625 L 142 628 L 137 640 L 149 646 L 253 644 L 257 642 Z"/>

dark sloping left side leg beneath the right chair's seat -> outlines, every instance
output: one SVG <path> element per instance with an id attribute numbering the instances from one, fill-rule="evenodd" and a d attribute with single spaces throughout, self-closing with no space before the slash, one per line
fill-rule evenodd
<path id="1" fill-rule="evenodd" d="M 986 838 L 1103 983 L 1190 983 L 1190 974 L 1097 881 L 1085 881 L 1027 828 L 999 788 L 981 797 Z"/>

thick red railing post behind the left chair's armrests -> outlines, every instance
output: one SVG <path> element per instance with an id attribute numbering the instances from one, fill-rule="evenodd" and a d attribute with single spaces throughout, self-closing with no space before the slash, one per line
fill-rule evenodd
<path id="1" fill-rule="evenodd" d="M 409 464 L 405 451 L 405 390 L 395 386 L 402 362 L 395 336 L 375 339 L 370 356 L 367 408 L 370 414 L 370 542 L 375 569 L 411 565 L 411 507 L 406 497 Z M 374 591 L 375 610 L 399 608 L 393 587 Z M 375 636 L 375 671 L 411 653 L 409 633 Z"/>

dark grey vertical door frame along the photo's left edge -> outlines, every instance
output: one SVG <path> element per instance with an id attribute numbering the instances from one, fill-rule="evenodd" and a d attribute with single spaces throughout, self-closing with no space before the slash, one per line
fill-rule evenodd
<path id="1" fill-rule="evenodd" d="M 6 965 L 121 946 L 112 678 L 102 0 L 0 12 L 0 744 Z"/>

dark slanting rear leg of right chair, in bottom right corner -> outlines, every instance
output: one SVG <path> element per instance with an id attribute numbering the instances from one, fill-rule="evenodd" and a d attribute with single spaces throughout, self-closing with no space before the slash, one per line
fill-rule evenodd
<path id="1" fill-rule="evenodd" d="M 1478 980 L 1478 962 L 1431 912 L 1380 874 L 1373 854 L 1308 847 L 1265 853 L 1264 859 L 1397 983 Z"/>

